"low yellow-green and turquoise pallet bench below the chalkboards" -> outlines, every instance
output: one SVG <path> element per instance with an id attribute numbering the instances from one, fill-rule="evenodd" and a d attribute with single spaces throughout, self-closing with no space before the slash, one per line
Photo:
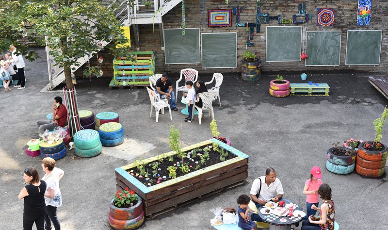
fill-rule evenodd
<path id="1" fill-rule="evenodd" d="M 326 83 L 291 83 L 292 96 L 329 96 L 329 85 Z"/>

